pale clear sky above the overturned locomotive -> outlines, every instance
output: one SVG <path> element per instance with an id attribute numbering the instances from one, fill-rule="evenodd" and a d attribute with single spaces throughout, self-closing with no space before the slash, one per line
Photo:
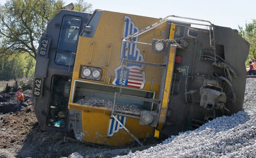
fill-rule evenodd
<path id="1" fill-rule="evenodd" d="M 76 0 L 63 0 L 66 5 Z M 0 0 L 3 5 L 6 0 Z M 255 0 L 86 0 L 92 9 L 135 14 L 153 18 L 170 15 L 202 19 L 214 25 L 239 29 L 256 19 Z"/>

